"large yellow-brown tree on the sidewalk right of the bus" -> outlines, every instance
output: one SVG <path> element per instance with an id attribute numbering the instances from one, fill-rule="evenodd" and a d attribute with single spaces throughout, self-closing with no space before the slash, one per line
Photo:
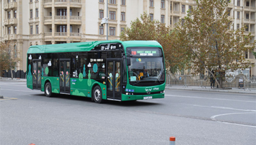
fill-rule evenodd
<path id="1" fill-rule="evenodd" d="M 190 54 L 192 74 L 208 70 L 222 88 L 226 70 L 248 68 L 244 52 L 255 48 L 245 28 L 232 29 L 226 0 L 197 0 L 197 6 L 176 26 L 179 41 Z M 250 44 L 250 45 L 249 45 Z M 215 72 L 215 74 L 213 74 Z"/>

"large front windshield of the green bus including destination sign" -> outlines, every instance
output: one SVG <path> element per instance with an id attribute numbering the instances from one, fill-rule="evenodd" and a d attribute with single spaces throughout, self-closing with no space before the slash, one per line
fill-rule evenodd
<path id="1" fill-rule="evenodd" d="M 129 82 L 134 86 L 154 86 L 165 82 L 163 55 L 159 48 L 131 50 Z M 152 53 L 154 52 L 154 53 Z"/>

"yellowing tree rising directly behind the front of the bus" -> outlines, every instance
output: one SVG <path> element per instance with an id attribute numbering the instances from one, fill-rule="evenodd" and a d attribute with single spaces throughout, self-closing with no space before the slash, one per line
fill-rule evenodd
<path id="1" fill-rule="evenodd" d="M 141 20 L 140 20 L 141 19 Z M 165 26 L 165 23 L 160 21 L 152 21 L 149 15 L 144 13 L 140 15 L 140 19 L 131 21 L 131 28 L 125 28 L 121 33 L 122 41 L 129 40 L 156 40 L 165 53 L 165 66 L 170 68 L 171 72 L 176 72 L 178 68 L 182 68 L 182 59 L 184 52 L 181 49 L 175 49 L 176 32 L 170 27 Z"/>

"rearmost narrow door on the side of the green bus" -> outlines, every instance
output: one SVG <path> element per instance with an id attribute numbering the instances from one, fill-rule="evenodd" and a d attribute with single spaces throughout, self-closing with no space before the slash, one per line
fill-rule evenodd
<path id="1" fill-rule="evenodd" d="M 33 89 L 41 90 L 42 65 L 41 60 L 33 60 Z"/>

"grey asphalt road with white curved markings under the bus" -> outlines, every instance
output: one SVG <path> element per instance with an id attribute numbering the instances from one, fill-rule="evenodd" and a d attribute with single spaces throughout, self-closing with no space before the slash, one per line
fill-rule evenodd
<path id="1" fill-rule="evenodd" d="M 0 81 L 0 144 L 255 144 L 256 96 L 165 90 L 164 99 L 45 97 Z"/>

